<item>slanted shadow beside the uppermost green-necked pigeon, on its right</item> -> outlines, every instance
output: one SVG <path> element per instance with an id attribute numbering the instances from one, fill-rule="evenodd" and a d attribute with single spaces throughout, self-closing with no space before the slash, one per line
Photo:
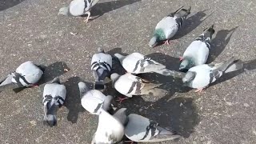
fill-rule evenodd
<path id="1" fill-rule="evenodd" d="M 207 10 L 209 10 L 209 9 L 207 9 Z M 197 28 L 203 21 L 206 20 L 206 18 L 210 17 L 211 14 L 209 16 L 207 16 L 206 18 L 204 18 L 206 16 L 205 12 L 206 12 L 206 10 L 198 11 L 197 14 L 194 14 L 190 18 L 187 18 L 185 20 L 184 25 L 182 26 L 181 30 L 179 30 L 178 33 L 175 34 L 174 38 L 172 38 L 172 39 L 182 38 L 186 34 L 189 34 L 192 30 Z"/>

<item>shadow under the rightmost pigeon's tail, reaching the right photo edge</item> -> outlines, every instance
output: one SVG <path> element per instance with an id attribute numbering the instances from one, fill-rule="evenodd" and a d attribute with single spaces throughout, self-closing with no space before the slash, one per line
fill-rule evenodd
<path id="1" fill-rule="evenodd" d="M 255 69 L 256 69 L 256 59 L 243 62 L 243 68 L 241 70 L 236 70 L 236 71 L 224 74 L 216 82 L 210 84 L 210 86 L 214 86 L 214 85 L 217 85 L 218 83 L 225 82 L 226 80 L 234 78 L 242 73 L 246 73 L 247 71 L 255 70 Z"/>

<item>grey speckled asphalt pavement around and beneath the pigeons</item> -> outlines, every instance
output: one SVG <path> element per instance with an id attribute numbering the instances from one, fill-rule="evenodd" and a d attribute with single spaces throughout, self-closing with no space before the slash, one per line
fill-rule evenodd
<path id="1" fill-rule="evenodd" d="M 90 58 L 98 47 L 110 54 L 138 51 L 177 70 L 186 46 L 212 24 L 216 33 L 209 62 L 235 56 L 245 62 L 244 71 L 226 74 L 202 94 L 182 87 L 178 79 L 148 74 L 155 82 L 163 82 L 168 94 L 134 97 L 121 107 L 182 135 L 166 144 L 256 143 L 256 2 L 102 0 L 91 11 L 95 19 L 87 24 L 83 18 L 57 15 L 69 2 L 0 2 L 1 78 L 33 60 L 48 66 L 42 83 L 60 76 L 68 90 L 66 104 L 58 110 L 58 126 L 53 128 L 42 125 L 43 84 L 0 93 L 0 143 L 90 143 L 97 118 L 82 109 L 77 84 L 93 82 Z M 147 44 L 157 22 L 183 5 L 192 6 L 191 14 L 171 45 L 150 48 Z M 119 96 L 110 88 L 106 94 Z"/>

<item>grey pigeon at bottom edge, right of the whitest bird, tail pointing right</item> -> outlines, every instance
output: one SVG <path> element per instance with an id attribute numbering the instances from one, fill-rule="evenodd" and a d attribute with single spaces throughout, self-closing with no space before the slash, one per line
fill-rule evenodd
<path id="1" fill-rule="evenodd" d="M 148 118 L 138 114 L 128 115 L 125 135 L 134 142 L 163 142 L 180 138 L 173 130 L 167 130 Z"/>

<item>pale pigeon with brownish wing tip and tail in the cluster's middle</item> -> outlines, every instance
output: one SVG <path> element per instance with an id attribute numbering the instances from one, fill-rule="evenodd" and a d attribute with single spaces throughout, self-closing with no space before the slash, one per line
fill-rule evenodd
<path id="1" fill-rule="evenodd" d="M 146 82 L 142 78 L 129 73 L 124 75 L 114 73 L 111 74 L 110 78 L 115 90 L 129 98 L 133 95 L 149 94 L 152 89 L 162 85 Z M 122 102 L 125 99 L 127 98 L 119 98 L 118 101 Z"/>

